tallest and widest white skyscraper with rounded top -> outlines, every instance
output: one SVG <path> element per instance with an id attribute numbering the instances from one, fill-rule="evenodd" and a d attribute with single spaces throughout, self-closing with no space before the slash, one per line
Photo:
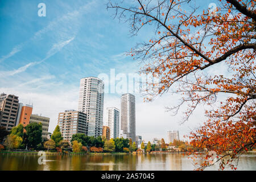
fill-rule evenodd
<path id="1" fill-rule="evenodd" d="M 87 115 L 88 136 L 98 137 L 103 129 L 104 82 L 97 77 L 81 78 L 79 111 Z"/>

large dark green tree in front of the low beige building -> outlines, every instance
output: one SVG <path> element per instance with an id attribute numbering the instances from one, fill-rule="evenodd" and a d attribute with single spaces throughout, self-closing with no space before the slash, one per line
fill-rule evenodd
<path id="1" fill-rule="evenodd" d="M 25 127 L 26 133 L 26 144 L 29 148 L 36 149 L 38 144 L 42 142 L 42 124 L 41 123 L 30 123 Z"/>

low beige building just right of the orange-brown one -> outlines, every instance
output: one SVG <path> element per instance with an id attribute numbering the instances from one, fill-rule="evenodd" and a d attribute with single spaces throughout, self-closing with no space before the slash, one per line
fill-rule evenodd
<path id="1" fill-rule="evenodd" d="M 41 123 L 42 124 L 42 139 L 47 140 L 48 129 L 49 129 L 49 118 L 43 117 L 38 114 L 30 115 L 30 123 Z"/>

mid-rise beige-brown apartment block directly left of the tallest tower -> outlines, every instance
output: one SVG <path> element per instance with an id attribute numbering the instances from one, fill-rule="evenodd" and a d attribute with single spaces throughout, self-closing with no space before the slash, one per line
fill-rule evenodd
<path id="1" fill-rule="evenodd" d="M 76 110 L 59 113 L 58 124 L 64 140 L 71 140 L 73 134 L 87 133 L 87 115 Z"/>

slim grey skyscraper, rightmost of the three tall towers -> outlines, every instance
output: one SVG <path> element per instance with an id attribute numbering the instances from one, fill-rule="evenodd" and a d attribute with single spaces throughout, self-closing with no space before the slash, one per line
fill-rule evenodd
<path id="1" fill-rule="evenodd" d="M 121 97 L 121 130 L 127 138 L 136 141 L 135 96 L 130 93 Z"/>

